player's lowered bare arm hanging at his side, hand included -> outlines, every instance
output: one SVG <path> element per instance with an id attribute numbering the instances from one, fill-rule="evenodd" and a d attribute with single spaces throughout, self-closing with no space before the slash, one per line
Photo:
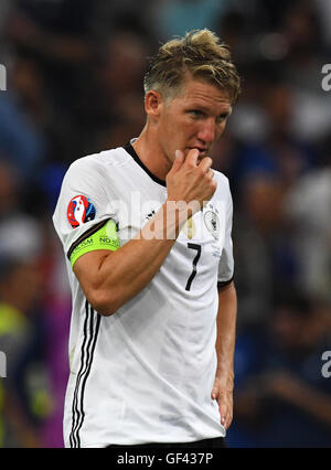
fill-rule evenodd
<path id="1" fill-rule="evenodd" d="M 227 429 L 233 418 L 234 349 L 237 297 L 234 282 L 218 290 L 217 368 L 212 398 L 220 407 L 221 423 Z"/>

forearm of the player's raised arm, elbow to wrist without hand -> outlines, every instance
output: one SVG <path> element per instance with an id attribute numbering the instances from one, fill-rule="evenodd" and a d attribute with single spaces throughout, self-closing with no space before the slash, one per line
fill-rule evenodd
<path id="1" fill-rule="evenodd" d="M 92 285 L 100 313 L 114 313 L 148 286 L 167 258 L 186 217 L 183 211 L 171 211 L 164 203 L 131 241 L 100 259 Z"/>

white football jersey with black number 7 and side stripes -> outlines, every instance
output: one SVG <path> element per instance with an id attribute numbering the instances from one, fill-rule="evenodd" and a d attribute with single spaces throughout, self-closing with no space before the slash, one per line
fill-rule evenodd
<path id="1" fill-rule="evenodd" d="M 86 300 L 67 255 L 108 220 L 122 246 L 164 203 L 167 186 L 131 146 L 70 167 L 53 216 L 73 295 L 66 447 L 225 436 L 211 392 L 217 282 L 229 282 L 234 269 L 233 209 L 226 177 L 215 171 L 214 178 L 213 197 L 183 226 L 152 281 L 103 317 Z"/>

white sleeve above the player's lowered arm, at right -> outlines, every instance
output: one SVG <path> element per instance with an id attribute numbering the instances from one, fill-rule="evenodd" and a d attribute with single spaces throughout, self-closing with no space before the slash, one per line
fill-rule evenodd
<path id="1" fill-rule="evenodd" d="M 218 286 L 226 286 L 234 277 L 234 258 L 232 243 L 233 201 L 227 182 L 227 203 L 225 212 L 225 237 L 224 246 L 218 265 Z"/>

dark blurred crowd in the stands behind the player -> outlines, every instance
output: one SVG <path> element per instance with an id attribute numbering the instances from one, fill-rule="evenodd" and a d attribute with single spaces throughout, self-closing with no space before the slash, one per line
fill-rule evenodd
<path id="1" fill-rule="evenodd" d="M 145 124 L 142 75 L 194 28 L 243 95 L 215 168 L 234 197 L 238 329 L 231 447 L 331 447 L 329 0 L 1 0 L 0 447 L 62 447 L 71 295 L 51 216 L 75 159 Z"/>

